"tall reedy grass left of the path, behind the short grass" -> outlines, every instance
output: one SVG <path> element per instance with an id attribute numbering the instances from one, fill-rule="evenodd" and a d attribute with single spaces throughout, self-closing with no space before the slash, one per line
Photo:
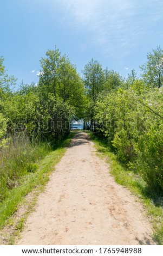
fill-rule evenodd
<path id="1" fill-rule="evenodd" d="M 37 170 L 37 162 L 50 150 L 50 144 L 30 142 L 24 133 L 10 138 L 8 147 L 0 152 L 0 202 L 19 186 L 22 176 Z"/>

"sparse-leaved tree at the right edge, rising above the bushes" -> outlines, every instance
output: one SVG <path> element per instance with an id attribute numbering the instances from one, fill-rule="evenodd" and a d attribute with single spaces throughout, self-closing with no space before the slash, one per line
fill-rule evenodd
<path id="1" fill-rule="evenodd" d="M 147 53 L 147 62 L 140 66 L 142 78 L 149 87 L 160 88 L 163 84 L 163 50 L 157 46 L 153 53 Z"/>

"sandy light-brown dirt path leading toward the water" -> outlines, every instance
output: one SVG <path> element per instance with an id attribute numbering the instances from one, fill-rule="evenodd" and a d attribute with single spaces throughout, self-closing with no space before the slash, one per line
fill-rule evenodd
<path id="1" fill-rule="evenodd" d="M 40 194 L 18 245 L 154 245 L 134 196 L 77 133 Z"/>

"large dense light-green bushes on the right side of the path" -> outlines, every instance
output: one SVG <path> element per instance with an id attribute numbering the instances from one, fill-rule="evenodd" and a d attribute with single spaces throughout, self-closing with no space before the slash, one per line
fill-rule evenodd
<path id="1" fill-rule="evenodd" d="M 135 80 L 129 89 L 101 95 L 95 117 L 118 159 L 138 172 L 153 193 L 163 192 L 163 94 Z"/>

